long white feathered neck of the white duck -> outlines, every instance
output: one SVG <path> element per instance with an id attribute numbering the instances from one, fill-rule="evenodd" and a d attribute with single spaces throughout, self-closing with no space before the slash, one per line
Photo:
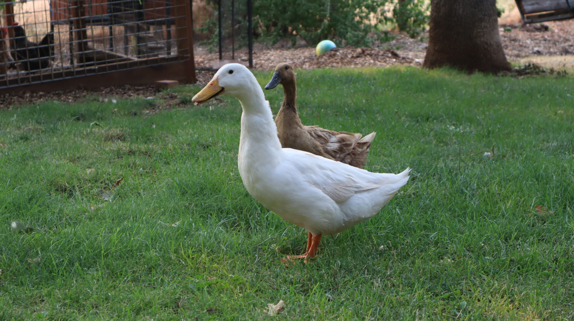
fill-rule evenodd
<path id="1" fill-rule="evenodd" d="M 241 115 L 241 138 L 239 139 L 239 165 L 260 167 L 276 165 L 280 161 L 281 143 L 269 102 L 255 79 L 251 90 L 237 96 L 243 113 Z"/>

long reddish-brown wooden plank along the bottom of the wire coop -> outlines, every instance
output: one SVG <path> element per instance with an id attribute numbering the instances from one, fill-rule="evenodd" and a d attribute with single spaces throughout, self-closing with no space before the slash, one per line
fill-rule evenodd
<path id="1" fill-rule="evenodd" d="M 124 63 L 125 64 L 125 63 Z M 100 68 L 101 69 L 101 68 Z M 80 72 L 87 72 L 90 69 Z M 66 72 L 60 72 L 64 74 Z M 78 71 L 76 71 L 78 73 Z M 58 73 L 54 73 L 56 75 Z M 62 75 L 56 75 L 62 76 Z M 37 77 L 37 76 L 36 76 Z M 16 93 L 22 91 L 30 92 L 51 92 L 65 89 L 79 88 L 99 88 L 114 85 L 142 85 L 153 84 L 157 80 L 173 79 L 185 80 L 185 62 L 177 61 L 159 66 L 145 66 L 129 70 L 119 70 L 115 72 L 98 73 L 87 76 L 75 76 L 66 79 L 46 81 L 29 85 L 19 85 L 9 88 L 0 88 L 0 95 L 5 93 Z"/>

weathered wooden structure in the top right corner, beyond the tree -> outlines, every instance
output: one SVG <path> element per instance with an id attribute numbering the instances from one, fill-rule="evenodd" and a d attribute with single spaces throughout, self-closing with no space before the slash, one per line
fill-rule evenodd
<path id="1" fill-rule="evenodd" d="M 574 0 L 516 0 L 525 24 L 574 18 Z"/>

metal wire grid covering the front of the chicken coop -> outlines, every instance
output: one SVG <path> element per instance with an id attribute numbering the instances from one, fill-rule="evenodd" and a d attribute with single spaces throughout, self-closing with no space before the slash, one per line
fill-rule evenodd
<path id="1" fill-rule="evenodd" d="M 0 88 L 189 59 L 177 49 L 178 41 L 187 40 L 187 34 L 178 31 L 186 27 L 174 25 L 176 19 L 185 19 L 185 5 L 172 0 L 3 5 L 0 28 L 7 34 L 0 41 Z"/>

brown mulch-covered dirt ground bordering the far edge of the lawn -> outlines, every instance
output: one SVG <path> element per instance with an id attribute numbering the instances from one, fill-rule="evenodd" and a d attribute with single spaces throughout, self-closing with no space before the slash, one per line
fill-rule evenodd
<path id="1" fill-rule="evenodd" d="M 513 18 L 502 22 L 506 23 L 499 25 L 499 30 L 509 61 L 518 64 L 536 62 L 545 68 L 553 67 L 567 71 L 574 69 L 574 19 L 522 25 L 514 14 Z M 272 47 L 256 44 L 253 53 L 254 68 L 272 71 L 279 62 L 289 62 L 297 69 L 422 65 L 428 44 L 428 33 L 422 33 L 415 39 L 404 33 L 391 35 L 394 38 L 390 42 L 377 43 L 371 48 L 338 48 L 318 57 L 315 56 L 315 48 L 310 46 L 290 48 L 290 43 L 287 42 L 280 42 Z M 238 50 L 236 57 L 240 62 L 247 63 L 246 50 Z M 208 53 L 205 47 L 196 46 L 195 61 L 197 67 L 211 68 L 214 62 L 218 61 L 218 56 L 215 53 Z M 198 83 L 207 83 L 213 73 L 213 71 L 199 71 L 197 73 Z M 42 100 L 72 102 L 85 99 L 86 96 L 96 95 L 103 98 L 154 96 L 167 101 L 164 107 L 177 104 L 177 97 L 156 93 L 152 86 L 123 86 L 55 93 L 25 92 L 18 95 L 2 95 L 0 107 L 10 108 L 13 105 L 30 104 Z"/>

